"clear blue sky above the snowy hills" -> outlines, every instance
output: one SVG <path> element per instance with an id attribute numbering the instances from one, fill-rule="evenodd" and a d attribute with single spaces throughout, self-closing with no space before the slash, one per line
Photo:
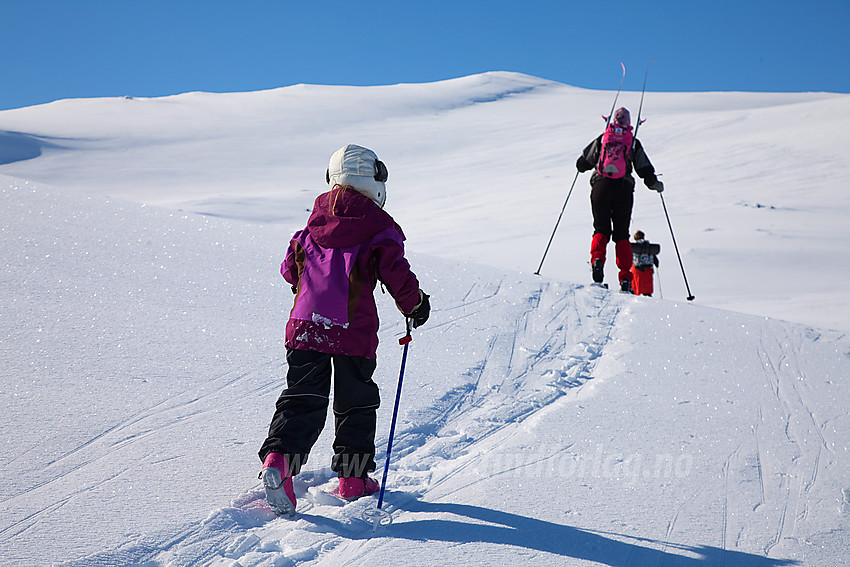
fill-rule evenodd
<path id="1" fill-rule="evenodd" d="M 850 92 L 850 0 L 0 0 L 0 110 L 519 71 L 592 89 Z"/>

